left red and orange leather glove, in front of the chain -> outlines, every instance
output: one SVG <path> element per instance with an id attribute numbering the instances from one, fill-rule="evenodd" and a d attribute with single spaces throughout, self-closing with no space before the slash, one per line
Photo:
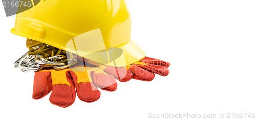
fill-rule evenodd
<path id="1" fill-rule="evenodd" d="M 115 70 L 115 67 L 107 69 L 111 71 L 111 69 Z M 132 78 L 132 74 L 123 74 L 122 77 L 121 81 L 124 79 L 127 81 Z M 41 99 L 52 91 L 50 96 L 52 104 L 69 107 L 75 101 L 75 92 L 81 101 L 97 101 L 100 98 L 100 91 L 97 88 L 115 91 L 117 83 L 112 75 L 106 74 L 99 67 L 92 65 L 85 67 L 80 64 L 62 70 L 44 69 L 35 71 L 33 99 Z"/>

